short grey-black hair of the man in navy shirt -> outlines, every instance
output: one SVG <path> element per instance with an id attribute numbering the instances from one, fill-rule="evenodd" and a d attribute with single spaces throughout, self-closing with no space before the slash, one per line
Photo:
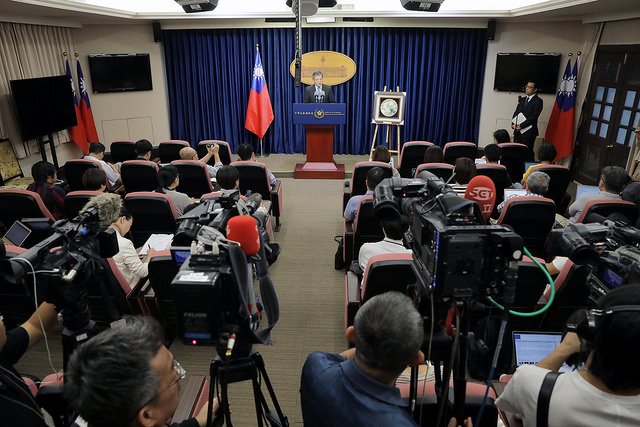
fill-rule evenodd
<path id="1" fill-rule="evenodd" d="M 371 368 L 399 374 L 418 354 L 422 317 L 411 299 L 386 292 L 367 301 L 354 321 L 356 357 Z"/>

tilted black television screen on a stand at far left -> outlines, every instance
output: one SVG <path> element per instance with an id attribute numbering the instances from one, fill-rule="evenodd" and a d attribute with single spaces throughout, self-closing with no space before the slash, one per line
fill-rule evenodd
<path id="1" fill-rule="evenodd" d="M 25 141 L 78 124 L 69 76 L 11 80 L 20 131 Z"/>

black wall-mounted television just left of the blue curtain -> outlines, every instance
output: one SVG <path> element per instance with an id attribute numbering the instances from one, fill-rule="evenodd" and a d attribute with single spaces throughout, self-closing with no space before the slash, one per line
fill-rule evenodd
<path id="1" fill-rule="evenodd" d="M 151 90 L 148 53 L 89 55 L 93 93 Z"/>

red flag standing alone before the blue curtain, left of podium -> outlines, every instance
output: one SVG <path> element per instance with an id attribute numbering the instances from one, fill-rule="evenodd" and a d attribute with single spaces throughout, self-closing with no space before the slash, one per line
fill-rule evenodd
<path id="1" fill-rule="evenodd" d="M 256 47 L 256 62 L 253 66 L 251 92 L 249 93 L 249 105 L 247 106 L 244 127 L 262 139 L 272 121 L 273 108 L 267 89 L 267 80 L 264 78 L 260 51 Z"/>

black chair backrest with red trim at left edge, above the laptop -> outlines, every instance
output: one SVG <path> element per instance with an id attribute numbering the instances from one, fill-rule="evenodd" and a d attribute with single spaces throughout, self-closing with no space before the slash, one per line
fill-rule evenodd
<path id="1" fill-rule="evenodd" d="M 56 220 L 38 193 L 29 190 L 0 190 L 0 221 L 9 228 L 22 218 Z"/>

